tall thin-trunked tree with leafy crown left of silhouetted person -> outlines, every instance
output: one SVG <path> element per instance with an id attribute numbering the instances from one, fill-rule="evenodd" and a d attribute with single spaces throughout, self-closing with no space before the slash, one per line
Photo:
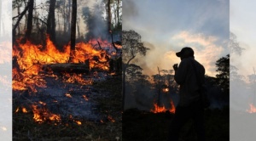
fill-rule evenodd
<path id="1" fill-rule="evenodd" d="M 136 31 L 122 31 L 123 40 L 123 109 L 125 108 L 125 74 L 126 69 L 130 65 L 131 60 L 135 59 L 137 55 L 146 55 L 148 48 L 144 47 L 141 41 L 141 36 Z"/>

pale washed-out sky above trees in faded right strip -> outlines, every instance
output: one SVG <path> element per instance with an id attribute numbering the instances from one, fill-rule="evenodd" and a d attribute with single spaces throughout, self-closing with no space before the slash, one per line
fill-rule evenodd
<path id="1" fill-rule="evenodd" d="M 231 65 L 239 69 L 243 76 L 253 74 L 253 67 L 256 69 L 256 1 L 232 0 L 230 1 L 230 31 L 237 38 L 241 48 L 245 48 L 241 56 L 231 55 Z M 256 70 L 255 70 L 256 71 Z"/>

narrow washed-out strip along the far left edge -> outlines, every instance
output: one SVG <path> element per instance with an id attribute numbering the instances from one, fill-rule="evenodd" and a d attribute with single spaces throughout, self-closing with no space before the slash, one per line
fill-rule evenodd
<path id="1" fill-rule="evenodd" d="M 0 32 L 0 138 L 12 140 L 12 1 L 2 1 Z"/>

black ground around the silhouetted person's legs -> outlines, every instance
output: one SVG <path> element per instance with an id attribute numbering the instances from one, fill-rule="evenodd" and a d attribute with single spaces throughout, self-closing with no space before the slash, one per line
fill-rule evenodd
<path id="1" fill-rule="evenodd" d="M 230 140 L 229 107 L 223 110 L 206 110 L 205 127 L 208 141 Z M 168 127 L 174 117 L 170 112 L 154 114 L 137 109 L 123 114 L 123 141 L 166 141 Z M 180 141 L 195 141 L 193 122 L 188 121 L 180 133 Z"/>

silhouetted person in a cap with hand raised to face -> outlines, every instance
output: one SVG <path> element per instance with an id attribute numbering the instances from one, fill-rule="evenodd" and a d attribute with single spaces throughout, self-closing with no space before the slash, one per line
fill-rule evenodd
<path id="1" fill-rule="evenodd" d="M 189 47 L 182 48 L 176 53 L 181 59 L 180 65 L 173 65 L 175 71 L 174 80 L 179 87 L 179 101 L 174 118 L 169 127 L 169 141 L 177 141 L 183 125 L 189 119 L 195 123 L 195 131 L 199 141 L 206 140 L 204 128 L 204 108 L 201 105 L 199 83 L 204 83 L 205 69 L 195 60 L 194 50 Z M 197 72 L 196 72 L 197 71 Z"/>

